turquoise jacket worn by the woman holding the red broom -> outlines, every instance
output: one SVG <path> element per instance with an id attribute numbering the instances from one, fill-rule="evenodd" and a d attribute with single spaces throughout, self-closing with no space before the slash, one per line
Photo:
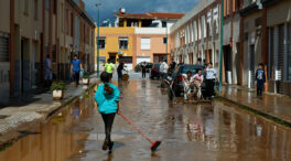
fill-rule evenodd
<path id="1" fill-rule="evenodd" d="M 118 106 L 116 101 L 119 101 L 120 92 L 114 84 L 108 83 L 108 85 L 114 89 L 111 95 L 106 94 L 104 90 L 104 84 L 98 86 L 95 94 L 95 100 L 100 114 L 117 112 Z"/>

